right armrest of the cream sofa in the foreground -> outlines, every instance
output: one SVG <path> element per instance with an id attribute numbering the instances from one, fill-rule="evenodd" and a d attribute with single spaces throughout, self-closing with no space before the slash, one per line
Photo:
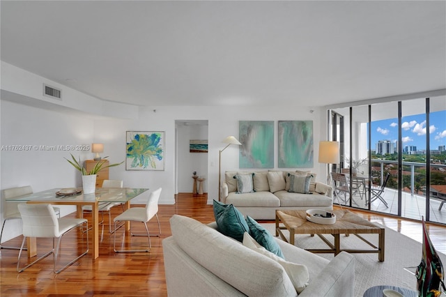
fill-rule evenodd
<path id="1" fill-rule="evenodd" d="M 299 296 L 353 296 L 354 284 L 355 257 L 348 252 L 340 252 L 310 280 Z"/>

